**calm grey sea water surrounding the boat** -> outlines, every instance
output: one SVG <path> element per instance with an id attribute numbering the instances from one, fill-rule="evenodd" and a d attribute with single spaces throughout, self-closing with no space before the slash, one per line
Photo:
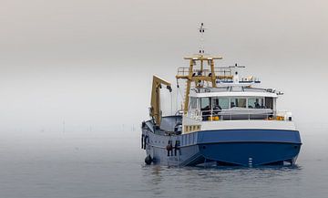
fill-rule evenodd
<path id="1" fill-rule="evenodd" d="M 146 166 L 139 131 L 13 134 L 0 141 L 0 197 L 327 197 L 326 128 L 302 129 L 297 166 Z"/>

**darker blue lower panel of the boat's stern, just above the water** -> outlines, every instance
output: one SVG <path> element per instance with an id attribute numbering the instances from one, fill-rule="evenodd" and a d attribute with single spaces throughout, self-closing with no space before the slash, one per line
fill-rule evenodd
<path id="1" fill-rule="evenodd" d="M 218 164 L 258 166 L 294 163 L 300 151 L 299 144 L 270 142 L 236 142 L 201 144 L 201 155 Z"/>

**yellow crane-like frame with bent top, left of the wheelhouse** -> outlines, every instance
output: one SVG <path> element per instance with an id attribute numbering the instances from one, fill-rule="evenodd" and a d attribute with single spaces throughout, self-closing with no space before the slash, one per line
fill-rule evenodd
<path id="1" fill-rule="evenodd" d="M 156 126 L 160 125 L 160 120 L 161 120 L 159 94 L 160 94 L 160 89 L 161 89 L 162 84 L 167 86 L 167 89 L 169 89 L 169 92 L 172 91 L 171 84 L 168 81 L 166 81 L 162 78 L 159 78 L 157 76 L 153 76 L 149 115 L 155 121 Z"/>

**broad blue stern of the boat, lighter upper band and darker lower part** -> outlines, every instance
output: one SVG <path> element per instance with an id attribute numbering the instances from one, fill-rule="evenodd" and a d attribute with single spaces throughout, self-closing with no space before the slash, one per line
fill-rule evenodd
<path id="1" fill-rule="evenodd" d="M 210 130 L 198 135 L 205 159 L 243 166 L 293 164 L 302 144 L 297 130 Z"/>

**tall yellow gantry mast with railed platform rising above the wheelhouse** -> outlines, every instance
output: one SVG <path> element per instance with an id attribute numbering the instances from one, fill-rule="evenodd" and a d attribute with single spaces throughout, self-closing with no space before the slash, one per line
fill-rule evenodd
<path id="1" fill-rule="evenodd" d="M 191 82 L 195 83 L 196 88 L 202 88 L 203 85 L 201 85 L 199 82 L 201 81 L 207 81 L 211 83 L 212 88 L 216 88 L 216 79 L 222 79 L 222 78 L 233 78 L 232 76 L 216 76 L 215 70 L 214 70 L 214 59 L 222 59 L 222 57 L 206 57 L 204 55 L 196 55 L 193 57 L 185 57 L 185 59 L 190 60 L 190 68 L 189 68 L 189 74 L 188 75 L 177 75 L 177 79 L 187 79 L 187 87 L 186 87 L 186 94 L 185 94 L 185 101 L 184 101 L 184 109 L 183 112 L 187 113 L 188 111 L 188 105 L 189 105 L 189 97 L 190 97 L 190 87 Z M 196 65 L 196 61 L 200 61 L 200 76 L 193 76 L 194 72 L 194 66 Z M 210 76 L 205 76 L 204 74 L 204 61 L 208 62 L 208 65 L 210 66 Z"/>

